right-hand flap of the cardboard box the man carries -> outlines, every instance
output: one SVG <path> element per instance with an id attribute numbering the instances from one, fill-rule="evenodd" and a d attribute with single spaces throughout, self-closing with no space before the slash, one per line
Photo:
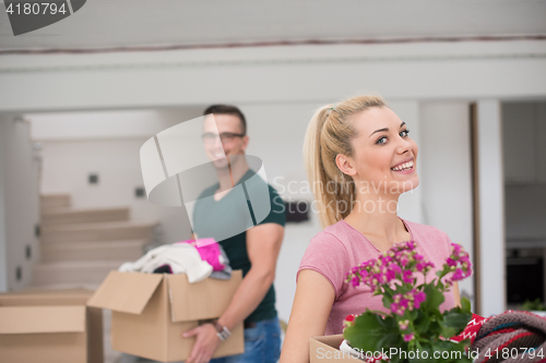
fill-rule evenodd
<path id="1" fill-rule="evenodd" d="M 173 322 L 207 319 L 221 316 L 229 305 L 242 271 L 234 270 L 229 280 L 207 278 L 189 283 L 186 274 L 168 275 Z"/>

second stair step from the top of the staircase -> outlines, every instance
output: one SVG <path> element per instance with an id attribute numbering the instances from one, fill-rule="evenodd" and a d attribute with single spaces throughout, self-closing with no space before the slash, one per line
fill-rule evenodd
<path id="1" fill-rule="evenodd" d="M 46 210 L 41 214 L 43 226 L 61 223 L 98 223 L 127 220 L 129 220 L 129 208 L 127 207 L 93 209 L 56 208 Z"/>

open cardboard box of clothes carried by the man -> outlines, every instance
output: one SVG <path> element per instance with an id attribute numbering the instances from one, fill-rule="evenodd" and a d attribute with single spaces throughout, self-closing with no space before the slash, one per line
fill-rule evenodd
<path id="1" fill-rule="evenodd" d="M 200 319 L 219 317 L 242 281 L 207 278 L 189 283 L 186 274 L 158 275 L 110 271 L 87 305 L 109 308 L 115 350 L 162 362 L 186 360 L 194 337 L 182 338 Z M 213 358 L 245 351 L 242 323 L 222 342 Z"/>

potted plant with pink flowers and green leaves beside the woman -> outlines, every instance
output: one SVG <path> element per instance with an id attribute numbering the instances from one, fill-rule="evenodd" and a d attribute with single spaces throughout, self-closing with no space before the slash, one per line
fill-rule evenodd
<path id="1" fill-rule="evenodd" d="M 471 304 L 461 299 L 462 307 L 440 312 L 443 293 L 453 281 L 472 274 L 468 254 L 462 246 L 451 244 L 451 255 L 443 268 L 427 281 L 434 268 L 416 251 L 415 241 L 395 244 L 379 258 L 353 267 L 347 282 L 354 287 L 369 286 L 375 295 L 382 295 L 390 313 L 366 310 L 344 320 L 343 338 L 360 358 L 397 362 L 472 362 L 465 352 L 470 340 L 460 343 L 449 338 L 461 332 L 472 318 Z M 425 282 L 417 286 L 417 274 Z M 393 352 L 399 352 L 394 353 Z M 404 352 L 404 353 L 403 353 Z"/>

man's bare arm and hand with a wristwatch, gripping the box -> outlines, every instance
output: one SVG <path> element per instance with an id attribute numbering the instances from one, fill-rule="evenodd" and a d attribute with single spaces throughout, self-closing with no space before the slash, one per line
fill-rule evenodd
<path id="1" fill-rule="evenodd" d="M 219 325 L 232 330 L 258 307 L 275 279 L 283 237 L 284 227 L 277 223 L 264 223 L 247 230 L 247 253 L 251 267 L 229 306 L 218 318 Z M 216 328 L 212 324 L 204 324 L 183 334 L 186 338 L 192 336 L 197 339 L 186 362 L 209 362 L 221 342 Z"/>

